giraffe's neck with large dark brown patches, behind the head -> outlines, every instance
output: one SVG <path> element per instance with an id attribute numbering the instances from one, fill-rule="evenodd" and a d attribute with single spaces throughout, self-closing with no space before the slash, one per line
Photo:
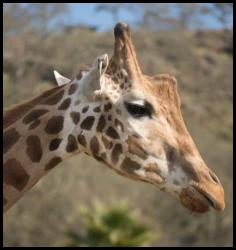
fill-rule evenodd
<path id="1" fill-rule="evenodd" d="M 4 211 L 61 161 L 83 151 L 83 130 L 91 129 L 95 120 L 77 84 L 41 97 L 4 114 Z"/>

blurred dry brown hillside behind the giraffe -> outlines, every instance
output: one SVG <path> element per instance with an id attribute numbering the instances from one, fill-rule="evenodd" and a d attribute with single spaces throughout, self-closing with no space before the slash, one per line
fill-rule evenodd
<path id="1" fill-rule="evenodd" d="M 233 34 L 231 30 L 133 32 L 145 74 L 178 80 L 182 112 L 201 155 L 219 176 L 223 212 L 193 214 L 155 187 L 118 176 L 80 155 L 61 163 L 4 215 L 5 246 L 57 246 L 68 227 L 80 230 L 78 206 L 127 200 L 155 228 L 155 246 L 232 246 L 233 232 Z M 55 86 L 53 70 L 71 78 L 95 57 L 112 55 L 112 32 L 85 27 L 49 34 L 37 30 L 4 37 L 4 107 Z M 76 224 L 76 225 L 75 225 Z"/>

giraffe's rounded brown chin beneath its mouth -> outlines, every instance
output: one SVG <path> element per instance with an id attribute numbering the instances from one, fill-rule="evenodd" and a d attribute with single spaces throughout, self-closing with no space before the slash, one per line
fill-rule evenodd
<path id="1" fill-rule="evenodd" d="M 192 212 L 205 213 L 210 208 L 208 201 L 191 188 L 182 189 L 179 200 L 184 207 Z"/>

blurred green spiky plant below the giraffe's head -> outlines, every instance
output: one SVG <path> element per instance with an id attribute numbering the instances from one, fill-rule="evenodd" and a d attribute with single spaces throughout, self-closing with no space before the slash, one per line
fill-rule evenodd
<path id="1" fill-rule="evenodd" d="M 73 230 L 66 232 L 67 246 L 132 247 L 149 244 L 154 234 L 139 221 L 137 213 L 127 205 L 105 207 L 95 203 L 93 211 L 81 209 L 85 234 Z"/>

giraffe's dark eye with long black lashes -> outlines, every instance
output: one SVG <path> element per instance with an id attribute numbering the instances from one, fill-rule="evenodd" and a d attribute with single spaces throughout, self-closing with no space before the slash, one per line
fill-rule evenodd
<path id="1" fill-rule="evenodd" d="M 148 102 L 144 102 L 144 104 L 125 102 L 125 107 L 127 111 L 134 118 L 140 118 L 144 116 L 148 116 L 149 118 L 152 118 L 153 107 Z"/>

